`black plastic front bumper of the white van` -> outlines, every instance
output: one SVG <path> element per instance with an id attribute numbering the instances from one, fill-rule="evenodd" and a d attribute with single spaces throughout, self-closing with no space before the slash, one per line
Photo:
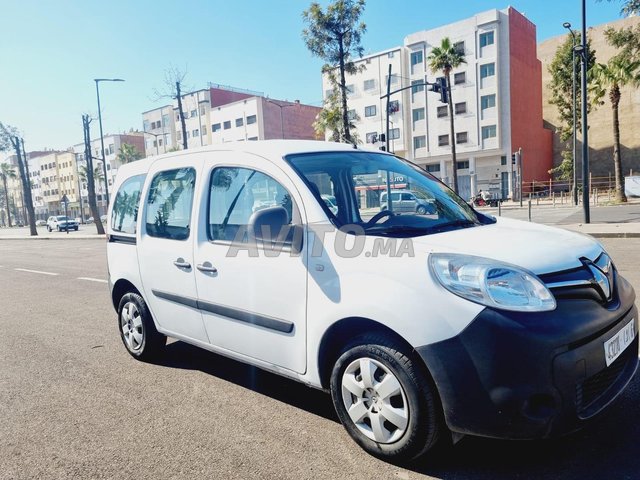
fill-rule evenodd
<path id="1" fill-rule="evenodd" d="M 552 312 L 487 308 L 459 335 L 416 348 L 452 431 L 533 439 L 568 433 L 624 390 L 638 366 L 638 310 L 616 274 L 613 299 L 561 299 Z M 604 343 L 630 321 L 635 339 L 609 367 Z"/>

